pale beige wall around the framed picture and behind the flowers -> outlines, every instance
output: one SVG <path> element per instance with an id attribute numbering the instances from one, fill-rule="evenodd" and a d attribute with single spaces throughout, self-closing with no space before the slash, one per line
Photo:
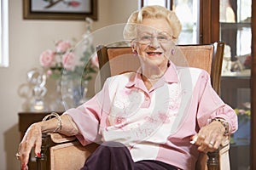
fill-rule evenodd
<path id="1" fill-rule="evenodd" d="M 98 0 L 98 20 L 93 28 L 124 23 L 137 9 L 137 1 Z M 0 170 L 19 169 L 15 153 L 20 142 L 18 112 L 23 111 L 24 99 L 18 94 L 26 82 L 26 72 L 39 67 L 38 56 L 46 48 L 53 48 L 58 39 L 80 39 L 83 21 L 23 20 L 22 1 L 9 0 L 9 61 L 8 68 L 0 68 Z"/>

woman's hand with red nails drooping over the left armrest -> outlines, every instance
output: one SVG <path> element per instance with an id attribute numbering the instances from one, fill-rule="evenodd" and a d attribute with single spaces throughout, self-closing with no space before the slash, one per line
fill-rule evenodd
<path id="1" fill-rule="evenodd" d="M 41 122 L 34 123 L 26 130 L 26 133 L 19 145 L 18 159 L 20 160 L 21 170 L 27 170 L 29 156 L 34 148 L 35 155 L 41 157 L 42 130 Z"/>

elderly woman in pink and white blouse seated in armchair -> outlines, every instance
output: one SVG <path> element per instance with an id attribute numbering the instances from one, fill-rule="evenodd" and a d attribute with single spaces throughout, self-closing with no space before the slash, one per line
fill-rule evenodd
<path id="1" fill-rule="evenodd" d="M 83 169 L 195 169 L 199 152 L 218 149 L 236 131 L 237 118 L 206 71 L 170 60 L 180 31 L 176 14 L 166 8 L 131 14 L 124 36 L 140 59 L 139 70 L 108 78 L 84 105 L 32 124 L 20 143 L 22 168 L 33 146 L 40 156 L 41 133 L 58 132 L 76 135 L 84 145 L 100 144 Z"/>

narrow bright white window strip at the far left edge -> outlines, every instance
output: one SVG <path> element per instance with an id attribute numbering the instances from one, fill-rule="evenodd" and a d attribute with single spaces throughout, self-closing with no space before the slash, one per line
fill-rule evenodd
<path id="1" fill-rule="evenodd" d="M 0 67 L 9 66 L 8 2 L 6 0 L 0 0 Z"/>

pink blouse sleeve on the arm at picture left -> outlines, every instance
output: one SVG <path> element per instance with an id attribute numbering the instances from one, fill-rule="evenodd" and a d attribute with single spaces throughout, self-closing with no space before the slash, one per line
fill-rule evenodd
<path id="1" fill-rule="evenodd" d="M 108 88 L 108 81 L 106 81 L 102 90 L 92 99 L 64 113 L 71 116 L 79 128 L 79 134 L 76 137 L 83 145 L 101 140 L 99 128 L 104 124 L 102 123 L 102 116 L 106 116 L 110 108 Z"/>

